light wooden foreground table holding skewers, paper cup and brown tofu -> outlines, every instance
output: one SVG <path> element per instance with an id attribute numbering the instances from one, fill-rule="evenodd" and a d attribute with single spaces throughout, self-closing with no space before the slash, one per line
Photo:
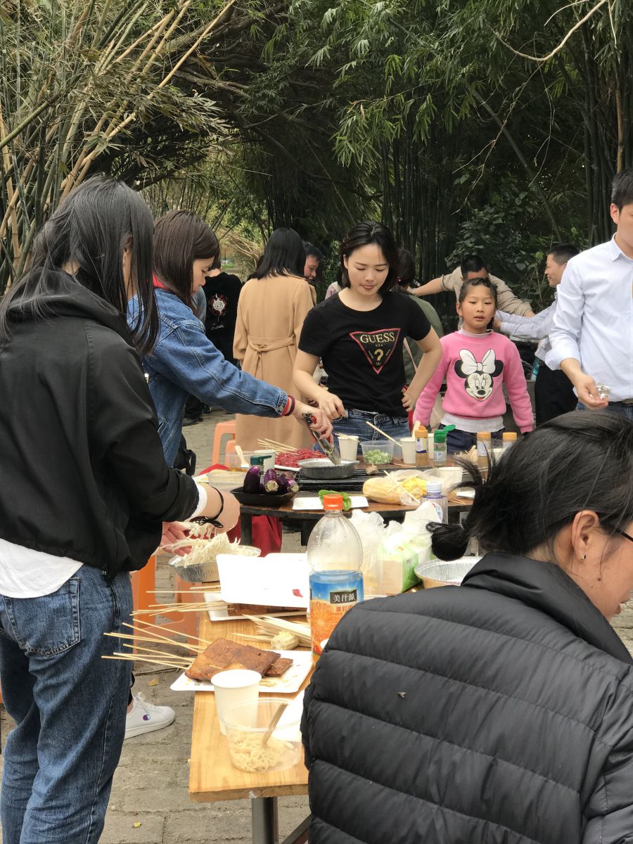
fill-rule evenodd
<path id="1" fill-rule="evenodd" d="M 296 620 L 296 619 L 293 619 Z M 305 620 L 305 619 L 303 619 Z M 200 637 L 214 641 L 219 637 L 243 643 L 235 633 L 255 630 L 252 621 L 216 621 L 203 618 Z M 256 645 L 256 642 L 252 642 Z M 310 682 L 306 678 L 301 689 Z M 262 695 L 266 693 L 261 693 Z M 269 692 L 268 695 L 273 694 Z M 284 695 L 288 700 L 292 695 Z M 278 844 L 277 798 L 307 794 L 308 772 L 303 761 L 288 771 L 248 774 L 238 771 L 230 761 L 228 741 L 219 732 L 213 692 L 198 691 L 193 703 L 192 755 L 189 771 L 189 796 L 199 802 L 251 798 L 253 844 Z M 310 818 L 284 840 L 284 844 L 307 841 Z"/>

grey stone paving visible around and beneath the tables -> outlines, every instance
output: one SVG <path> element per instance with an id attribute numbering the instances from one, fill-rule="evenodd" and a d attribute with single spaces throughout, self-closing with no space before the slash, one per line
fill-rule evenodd
<path id="1" fill-rule="evenodd" d="M 187 442 L 197 452 L 198 468 L 211 463 L 214 425 L 230 419 L 225 414 L 210 414 L 202 423 L 185 429 Z M 284 534 L 284 550 L 298 549 L 298 534 Z M 169 572 L 159 565 L 160 587 L 170 583 Z M 625 645 L 633 652 L 633 602 L 616 619 Z M 193 695 L 172 692 L 175 672 L 154 672 L 139 668 L 135 689 L 155 703 L 176 710 L 176 721 L 157 733 L 129 739 L 123 746 L 116 771 L 106 830 L 101 844 L 210 844 L 210 842 L 251 841 L 250 803 L 192 803 L 187 794 L 188 765 L 191 748 Z M 157 685 L 149 685 L 154 679 Z M 2 709 L 2 733 L 11 727 Z M 0 766 L 2 761 L 0 759 Z M 280 832 L 288 835 L 308 814 L 307 798 L 281 798 Z M 135 823 L 141 825 L 134 827 Z M 0 841 L 2 841 L 0 837 Z"/>

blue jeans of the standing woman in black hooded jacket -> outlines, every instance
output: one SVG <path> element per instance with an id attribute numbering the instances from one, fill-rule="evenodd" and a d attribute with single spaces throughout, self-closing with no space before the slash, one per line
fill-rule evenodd
<path id="1" fill-rule="evenodd" d="M 127 572 L 82 567 L 42 598 L 0 595 L 0 678 L 8 734 L 4 844 L 95 844 L 125 734 L 131 663 L 106 630 L 132 611 Z"/>

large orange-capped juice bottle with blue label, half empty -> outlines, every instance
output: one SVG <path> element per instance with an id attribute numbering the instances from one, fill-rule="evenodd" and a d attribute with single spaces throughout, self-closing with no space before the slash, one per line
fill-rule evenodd
<path id="1" fill-rule="evenodd" d="M 324 495 L 325 516 L 308 539 L 312 656 L 322 653 L 344 614 L 363 600 L 363 548 L 356 529 L 343 515 L 343 496 Z"/>

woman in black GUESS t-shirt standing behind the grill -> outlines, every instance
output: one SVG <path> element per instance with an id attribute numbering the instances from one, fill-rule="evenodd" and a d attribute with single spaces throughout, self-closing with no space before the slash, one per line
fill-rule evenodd
<path id="1" fill-rule="evenodd" d="M 341 269 L 341 292 L 313 308 L 303 324 L 295 384 L 334 420 L 335 434 L 376 438 L 370 421 L 396 439 L 408 436 L 407 414 L 440 362 L 440 340 L 415 302 L 392 292 L 398 247 L 386 226 L 355 225 L 341 244 Z M 406 337 L 425 354 L 403 390 Z M 319 358 L 327 390 L 312 380 Z"/>

